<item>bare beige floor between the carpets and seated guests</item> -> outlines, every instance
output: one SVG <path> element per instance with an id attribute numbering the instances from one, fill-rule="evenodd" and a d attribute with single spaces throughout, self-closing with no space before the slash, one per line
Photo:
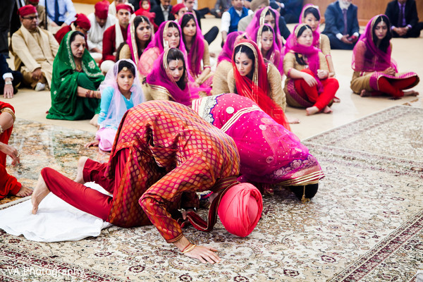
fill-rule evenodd
<path id="1" fill-rule="evenodd" d="M 75 4 L 78 13 L 91 13 L 92 5 Z M 220 19 L 206 18 L 202 20 L 203 30 L 207 31 L 213 25 L 220 27 Z M 293 25 L 289 25 L 292 30 Z M 212 42 L 210 50 L 219 52 L 221 37 Z M 415 71 L 420 77 L 423 75 L 423 38 L 417 39 L 393 39 L 393 58 L 398 62 L 399 71 Z M 387 97 L 367 97 L 362 98 L 353 94 L 350 90 L 350 78 L 353 74 L 351 69 L 352 51 L 333 50 L 332 57 L 336 68 L 336 78 L 339 80 L 340 88 L 337 96 L 341 98 L 341 103 L 334 104 L 333 114 L 317 114 L 314 116 L 305 116 L 303 109 L 287 109 L 287 114 L 291 117 L 300 119 L 300 124 L 292 125 L 293 132 L 305 139 L 317 135 L 331 128 L 336 128 L 345 123 L 355 121 L 377 111 L 381 111 L 398 104 L 410 104 L 412 106 L 423 107 L 422 98 L 405 97 L 403 99 L 391 100 Z M 9 65 L 12 62 L 9 60 Z M 423 95 L 423 83 L 415 87 Z M 96 128 L 90 125 L 89 121 L 54 121 L 45 118 L 46 111 L 51 104 L 50 93 L 47 91 L 35 92 L 32 90 L 20 90 L 13 99 L 4 99 L 1 101 L 11 103 L 16 109 L 18 118 L 25 118 L 31 121 L 61 125 L 66 128 L 75 128 L 87 130 L 95 133 Z"/>

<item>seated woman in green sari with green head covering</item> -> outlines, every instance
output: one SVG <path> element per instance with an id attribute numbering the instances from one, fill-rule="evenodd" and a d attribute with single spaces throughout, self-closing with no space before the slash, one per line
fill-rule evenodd
<path id="1" fill-rule="evenodd" d="M 102 71 L 85 48 L 84 35 L 79 31 L 68 32 L 53 63 L 47 118 L 71 121 L 92 118 L 99 111 L 101 94 L 96 90 L 103 80 Z"/>

